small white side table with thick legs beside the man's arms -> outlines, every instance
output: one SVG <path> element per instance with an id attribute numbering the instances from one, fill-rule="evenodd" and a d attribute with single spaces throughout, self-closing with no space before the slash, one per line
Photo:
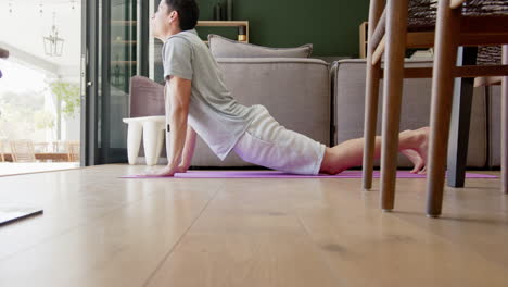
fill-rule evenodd
<path id="1" fill-rule="evenodd" d="M 147 165 L 155 165 L 163 147 L 164 130 L 166 129 L 165 116 L 130 117 L 123 121 L 128 125 L 127 157 L 129 164 L 136 164 L 142 134 Z"/>

